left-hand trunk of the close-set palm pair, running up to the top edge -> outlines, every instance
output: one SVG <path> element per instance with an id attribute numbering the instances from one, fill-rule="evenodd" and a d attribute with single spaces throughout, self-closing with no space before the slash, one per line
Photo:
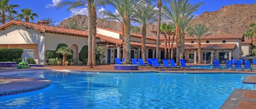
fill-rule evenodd
<path id="1" fill-rule="evenodd" d="M 92 66 L 92 2 L 91 0 L 87 0 L 87 8 L 88 8 L 88 61 L 87 68 L 93 68 Z"/>

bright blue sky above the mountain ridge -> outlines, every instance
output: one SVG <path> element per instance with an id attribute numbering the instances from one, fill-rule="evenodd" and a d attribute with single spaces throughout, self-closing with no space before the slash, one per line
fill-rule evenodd
<path id="1" fill-rule="evenodd" d="M 15 9 L 17 11 L 20 11 L 23 8 L 32 9 L 33 12 L 39 15 L 39 17 L 35 18 L 33 22 L 37 22 L 38 20 L 49 17 L 52 18 L 53 21 L 56 21 L 55 25 L 57 25 L 59 22 L 63 21 L 68 17 L 72 17 L 78 14 L 87 15 L 86 7 L 81 7 L 73 10 L 67 10 L 67 7 L 57 9 L 55 6 L 58 2 L 61 1 L 63 0 L 9 0 L 9 4 L 19 4 L 20 8 Z M 198 11 L 194 12 L 194 14 L 198 16 L 205 11 L 217 11 L 221 9 L 224 5 L 256 3 L 255 0 L 190 0 L 189 2 L 192 4 L 200 2 L 205 3 L 198 9 Z M 98 7 L 98 11 L 101 10 L 110 10 L 113 12 L 115 11 L 115 9 L 110 6 Z"/>

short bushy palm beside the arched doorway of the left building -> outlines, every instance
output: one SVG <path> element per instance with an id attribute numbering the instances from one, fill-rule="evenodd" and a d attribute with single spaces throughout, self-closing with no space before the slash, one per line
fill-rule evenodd
<path id="1" fill-rule="evenodd" d="M 56 53 L 62 54 L 62 66 L 64 66 L 65 61 L 67 60 L 67 55 L 72 55 L 72 49 L 69 47 L 62 46 L 57 49 Z"/>

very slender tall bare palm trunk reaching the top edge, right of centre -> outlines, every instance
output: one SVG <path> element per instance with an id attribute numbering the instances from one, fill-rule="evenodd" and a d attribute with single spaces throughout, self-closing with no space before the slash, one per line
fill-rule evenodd
<path id="1" fill-rule="evenodd" d="M 157 22 L 157 48 L 156 48 L 156 59 L 159 59 L 159 44 L 160 44 L 160 23 L 161 23 L 161 9 L 162 9 L 162 1 L 158 0 L 158 22 Z"/>

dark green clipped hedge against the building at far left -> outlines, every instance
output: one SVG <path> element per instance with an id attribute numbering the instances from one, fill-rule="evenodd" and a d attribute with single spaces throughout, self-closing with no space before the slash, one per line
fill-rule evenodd
<path id="1" fill-rule="evenodd" d="M 21 55 L 23 53 L 23 50 L 20 48 L 17 49 L 8 49 L 3 48 L 0 49 L 0 61 L 15 61 L 19 60 L 21 58 Z"/>

